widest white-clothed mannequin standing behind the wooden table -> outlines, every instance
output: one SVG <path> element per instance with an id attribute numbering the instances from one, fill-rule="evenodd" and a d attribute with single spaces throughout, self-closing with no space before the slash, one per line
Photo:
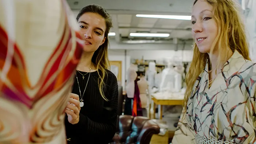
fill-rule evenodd
<path id="1" fill-rule="evenodd" d="M 159 91 L 179 92 L 182 87 L 181 74 L 176 72 L 172 63 L 168 63 L 167 68 L 162 71 L 162 80 L 160 83 Z"/>

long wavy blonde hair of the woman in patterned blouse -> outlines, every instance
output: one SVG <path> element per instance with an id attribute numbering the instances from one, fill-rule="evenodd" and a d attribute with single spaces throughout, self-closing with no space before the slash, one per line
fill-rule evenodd
<path id="1" fill-rule="evenodd" d="M 218 35 L 211 46 L 210 55 L 214 49 L 222 49 L 218 50 L 219 57 L 217 64 L 220 64 L 223 57 L 226 56 L 227 58 L 228 49 L 231 49 L 232 52 L 237 50 L 246 60 L 251 60 L 249 58 L 245 26 L 242 22 L 240 11 L 237 7 L 238 4 L 234 0 L 206 1 L 214 7 L 214 19 L 218 24 Z M 197 0 L 195 0 L 193 5 L 195 5 L 196 2 Z M 223 51 L 226 51 L 226 53 Z M 197 80 L 197 77 L 203 72 L 208 58 L 209 54 L 199 52 L 196 43 L 194 43 L 193 58 L 185 79 L 187 90 L 184 98 L 184 110 L 187 110 L 188 98 L 192 95 L 193 86 Z M 218 66 L 219 65 L 217 65 L 217 67 Z M 183 118 L 185 117 L 183 116 Z"/>

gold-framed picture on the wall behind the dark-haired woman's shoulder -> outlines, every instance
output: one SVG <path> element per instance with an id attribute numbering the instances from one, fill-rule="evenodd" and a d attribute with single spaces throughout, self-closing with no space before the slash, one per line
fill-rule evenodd
<path id="1" fill-rule="evenodd" d="M 122 82 L 122 61 L 110 61 L 110 71 L 117 77 L 118 83 Z"/>

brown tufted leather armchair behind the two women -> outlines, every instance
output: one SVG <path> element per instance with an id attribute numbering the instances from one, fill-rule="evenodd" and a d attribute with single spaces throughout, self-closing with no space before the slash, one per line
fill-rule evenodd
<path id="1" fill-rule="evenodd" d="M 160 128 L 147 117 L 120 115 L 117 131 L 110 144 L 149 144 L 153 134 L 158 134 Z"/>

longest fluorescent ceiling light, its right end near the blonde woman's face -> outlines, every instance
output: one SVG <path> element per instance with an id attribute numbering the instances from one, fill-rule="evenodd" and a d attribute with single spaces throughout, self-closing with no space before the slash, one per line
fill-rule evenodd
<path id="1" fill-rule="evenodd" d="M 137 17 L 143 17 L 143 18 L 191 20 L 191 16 L 186 16 L 186 15 L 136 15 L 136 16 Z"/>

